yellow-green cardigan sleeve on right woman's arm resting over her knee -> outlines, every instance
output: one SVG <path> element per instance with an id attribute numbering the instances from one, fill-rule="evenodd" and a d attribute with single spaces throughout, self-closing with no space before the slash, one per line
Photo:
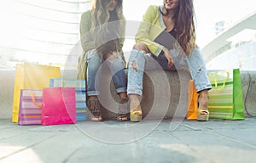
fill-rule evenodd
<path id="1" fill-rule="evenodd" d="M 147 45 L 149 51 L 158 56 L 164 48 L 157 42 L 154 42 L 154 38 L 157 37 L 162 29 L 159 25 L 158 19 L 158 7 L 149 6 L 146 13 L 143 15 L 143 21 L 141 22 L 137 34 L 136 42 L 143 42 Z"/>

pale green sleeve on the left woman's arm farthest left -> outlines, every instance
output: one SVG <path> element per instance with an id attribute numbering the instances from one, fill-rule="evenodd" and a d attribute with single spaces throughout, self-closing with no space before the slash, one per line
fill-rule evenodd
<path id="1" fill-rule="evenodd" d="M 91 19 L 90 10 L 82 14 L 80 20 L 80 39 L 84 52 L 95 48 L 95 41 L 91 36 Z"/>

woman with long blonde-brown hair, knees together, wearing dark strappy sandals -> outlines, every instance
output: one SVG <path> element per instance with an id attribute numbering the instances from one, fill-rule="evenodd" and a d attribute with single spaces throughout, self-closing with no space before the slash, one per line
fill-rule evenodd
<path id="1" fill-rule="evenodd" d="M 102 121 L 100 103 L 97 96 L 98 70 L 102 63 L 109 66 L 113 83 L 119 94 L 117 121 L 127 121 L 125 59 L 122 52 L 125 36 L 123 0 L 93 0 L 92 8 L 82 14 L 80 38 L 83 54 L 79 58 L 78 78 L 86 79 L 87 106 L 91 121 Z"/>

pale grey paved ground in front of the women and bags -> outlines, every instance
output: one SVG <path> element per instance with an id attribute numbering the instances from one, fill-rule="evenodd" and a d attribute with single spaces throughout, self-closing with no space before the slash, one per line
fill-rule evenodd
<path id="1" fill-rule="evenodd" d="M 170 125 L 171 129 L 170 129 Z M 255 162 L 256 118 L 84 121 L 18 126 L 0 120 L 0 162 Z"/>

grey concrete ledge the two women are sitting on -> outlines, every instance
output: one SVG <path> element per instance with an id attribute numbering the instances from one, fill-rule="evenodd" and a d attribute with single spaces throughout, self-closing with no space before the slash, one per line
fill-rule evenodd
<path id="1" fill-rule="evenodd" d="M 76 71 L 65 70 L 62 71 L 61 76 L 75 78 Z M 102 77 L 104 80 L 100 85 L 102 94 L 99 98 L 103 106 L 103 118 L 114 119 L 118 109 L 118 95 L 115 93 L 113 82 L 111 82 L 108 73 L 103 73 Z M 163 73 L 160 70 L 152 70 L 145 74 L 142 98 L 144 115 L 147 115 L 148 119 L 183 117 L 187 108 L 189 79 L 190 75 L 186 71 L 177 74 L 176 71 Z M 256 116 L 255 81 L 256 71 L 241 71 L 243 101 L 247 116 Z M 15 70 L 0 70 L 0 82 L 0 119 L 10 119 L 13 105 Z"/>

